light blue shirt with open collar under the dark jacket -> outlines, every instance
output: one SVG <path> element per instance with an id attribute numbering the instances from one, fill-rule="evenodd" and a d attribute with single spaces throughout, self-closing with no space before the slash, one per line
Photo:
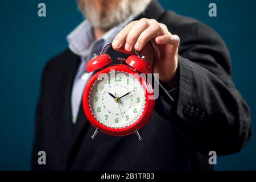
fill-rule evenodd
<path id="1" fill-rule="evenodd" d="M 110 29 L 100 39 L 95 40 L 92 24 L 88 20 L 84 20 L 75 28 L 68 36 L 69 49 L 76 55 L 81 57 L 81 63 L 77 70 L 75 80 L 73 81 L 71 105 L 72 105 L 72 122 L 76 123 L 77 114 L 79 112 L 82 92 L 86 82 L 92 76 L 92 73 L 86 73 L 85 65 L 92 58 L 93 53 L 100 53 L 106 43 L 112 42 L 115 35 L 123 29 L 134 16 L 130 16 L 125 22 Z"/>

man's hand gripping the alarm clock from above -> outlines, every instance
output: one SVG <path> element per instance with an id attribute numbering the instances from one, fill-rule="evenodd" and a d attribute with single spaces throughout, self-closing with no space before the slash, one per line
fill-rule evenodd
<path id="1" fill-rule="evenodd" d="M 154 65 L 154 73 L 159 73 L 159 79 L 174 88 L 177 86 L 179 44 L 179 36 L 172 35 L 166 25 L 142 18 L 127 24 L 115 36 L 112 46 L 116 50 L 125 47 L 126 51 L 141 51 L 141 55 L 146 55 L 146 60 Z"/>

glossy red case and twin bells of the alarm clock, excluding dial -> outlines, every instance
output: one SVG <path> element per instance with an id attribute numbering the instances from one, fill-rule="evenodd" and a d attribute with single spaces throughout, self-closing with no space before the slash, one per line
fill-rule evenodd
<path id="1" fill-rule="evenodd" d="M 127 51 L 121 51 L 127 53 Z M 112 65 L 110 67 L 106 67 L 102 69 L 101 71 L 98 71 L 96 74 L 94 74 L 89 81 L 87 82 L 84 93 L 82 94 L 82 106 L 84 108 L 84 112 L 86 117 L 88 118 L 89 122 L 96 127 L 96 129 L 100 129 L 102 133 L 113 135 L 113 136 L 125 136 L 133 134 L 135 130 L 140 130 L 148 120 L 150 119 L 153 111 L 154 111 L 154 105 L 155 100 L 149 100 L 148 97 L 152 96 L 154 97 L 154 90 L 152 89 L 152 86 L 150 83 L 147 83 L 146 80 L 144 80 L 142 77 L 139 77 L 138 72 L 142 73 L 151 73 L 152 67 L 149 63 L 147 63 L 145 60 L 143 60 L 141 57 L 136 55 L 131 55 L 127 57 L 126 64 L 117 64 Z M 93 72 L 97 69 L 100 69 L 102 67 L 105 67 L 106 65 L 112 63 L 112 59 L 109 55 L 101 54 L 99 56 L 94 57 L 92 60 L 88 61 L 86 64 L 86 70 L 87 72 Z M 123 71 L 127 73 L 131 73 L 136 77 L 139 82 L 141 82 L 141 85 L 144 89 L 145 96 L 146 96 L 146 105 L 144 108 L 144 111 L 141 115 L 141 117 L 136 121 L 133 125 L 122 128 L 122 129 L 114 129 L 108 126 L 103 125 L 102 123 L 98 122 L 96 118 L 94 118 L 92 111 L 89 108 L 89 92 L 92 88 L 94 82 L 97 80 L 98 76 L 103 73 L 108 73 L 110 71 Z"/>

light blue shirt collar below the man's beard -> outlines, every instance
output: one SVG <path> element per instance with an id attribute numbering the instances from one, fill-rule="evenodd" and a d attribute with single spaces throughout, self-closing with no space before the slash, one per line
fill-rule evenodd
<path id="1" fill-rule="evenodd" d="M 111 28 L 106 32 L 100 39 L 95 40 L 93 34 L 93 26 L 88 20 L 84 20 L 73 30 L 68 36 L 67 41 L 69 44 L 69 49 L 78 56 L 85 57 L 88 56 L 92 46 L 104 40 L 104 44 L 112 42 L 115 35 L 122 30 L 128 23 L 135 18 L 131 15 L 125 22 L 118 24 L 117 26 Z"/>

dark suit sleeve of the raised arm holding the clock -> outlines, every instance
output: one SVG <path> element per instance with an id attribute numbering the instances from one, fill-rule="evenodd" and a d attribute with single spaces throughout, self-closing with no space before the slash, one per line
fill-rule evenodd
<path id="1" fill-rule="evenodd" d="M 181 35 L 179 88 L 169 93 L 175 101 L 160 90 L 156 111 L 201 154 L 238 152 L 251 136 L 251 118 L 232 81 L 229 52 L 208 26 L 196 23 L 191 30 Z"/>

